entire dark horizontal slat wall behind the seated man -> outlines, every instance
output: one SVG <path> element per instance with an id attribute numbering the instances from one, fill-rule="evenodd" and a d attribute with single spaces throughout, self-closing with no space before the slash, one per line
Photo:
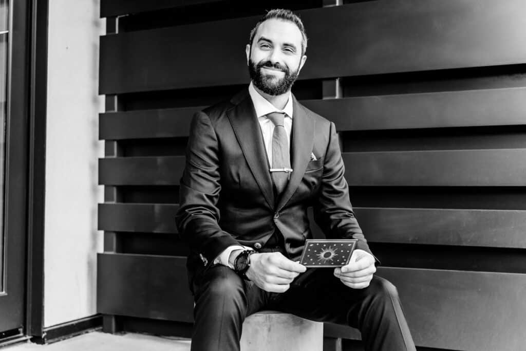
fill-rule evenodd
<path id="1" fill-rule="evenodd" d="M 356 216 L 417 346 L 521 349 L 526 3 L 329 3 L 279 2 L 298 9 L 309 36 L 293 92 L 336 124 Z M 246 87 L 244 47 L 273 5 L 102 0 L 106 331 L 187 335 L 178 330 L 192 322 L 188 247 L 174 215 L 191 117 Z M 325 333 L 360 338 L 330 324 Z"/>

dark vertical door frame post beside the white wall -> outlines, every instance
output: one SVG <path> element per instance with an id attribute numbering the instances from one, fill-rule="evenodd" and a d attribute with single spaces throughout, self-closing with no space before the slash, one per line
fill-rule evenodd
<path id="1" fill-rule="evenodd" d="M 44 331 L 44 205 L 46 175 L 48 0 L 31 6 L 29 77 L 29 162 L 27 182 L 26 336 L 40 340 Z"/>

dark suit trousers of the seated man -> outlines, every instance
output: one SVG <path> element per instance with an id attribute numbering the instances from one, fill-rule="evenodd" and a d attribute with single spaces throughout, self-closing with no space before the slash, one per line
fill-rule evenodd
<path id="1" fill-rule="evenodd" d="M 226 266 L 201 271 L 193 282 L 191 350 L 239 350 L 245 317 L 262 309 L 358 328 L 366 350 L 416 350 L 397 290 L 388 280 L 375 275 L 369 287 L 352 289 L 332 268 L 304 274 L 285 293 L 269 293 Z"/>

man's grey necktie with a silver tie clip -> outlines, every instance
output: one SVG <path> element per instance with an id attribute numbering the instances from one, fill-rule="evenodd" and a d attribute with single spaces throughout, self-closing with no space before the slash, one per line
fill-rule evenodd
<path id="1" fill-rule="evenodd" d="M 290 172 L 290 154 L 289 138 L 285 131 L 285 114 L 272 112 L 267 115 L 268 119 L 274 123 L 274 132 L 272 133 L 272 168 L 270 175 L 276 185 L 278 194 L 285 189 L 289 180 Z"/>

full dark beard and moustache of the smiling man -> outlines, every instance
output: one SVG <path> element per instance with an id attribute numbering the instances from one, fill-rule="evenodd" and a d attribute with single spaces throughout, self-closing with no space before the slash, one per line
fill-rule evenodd
<path id="1" fill-rule="evenodd" d="M 261 72 L 262 67 L 270 67 L 280 69 L 285 73 L 283 78 L 276 78 L 271 75 L 264 75 Z M 248 61 L 248 72 L 250 73 L 250 79 L 254 82 L 254 85 L 262 92 L 268 95 L 277 96 L 285 94 L 290 90 L 292 84 L 296 82 L 298 78 L 298 69 L 291 72 L 289 67 L 280 65 L 279 63 L 272 64 L 270 61 L 260 61 L 256 64 L 252 59 Z"/>

